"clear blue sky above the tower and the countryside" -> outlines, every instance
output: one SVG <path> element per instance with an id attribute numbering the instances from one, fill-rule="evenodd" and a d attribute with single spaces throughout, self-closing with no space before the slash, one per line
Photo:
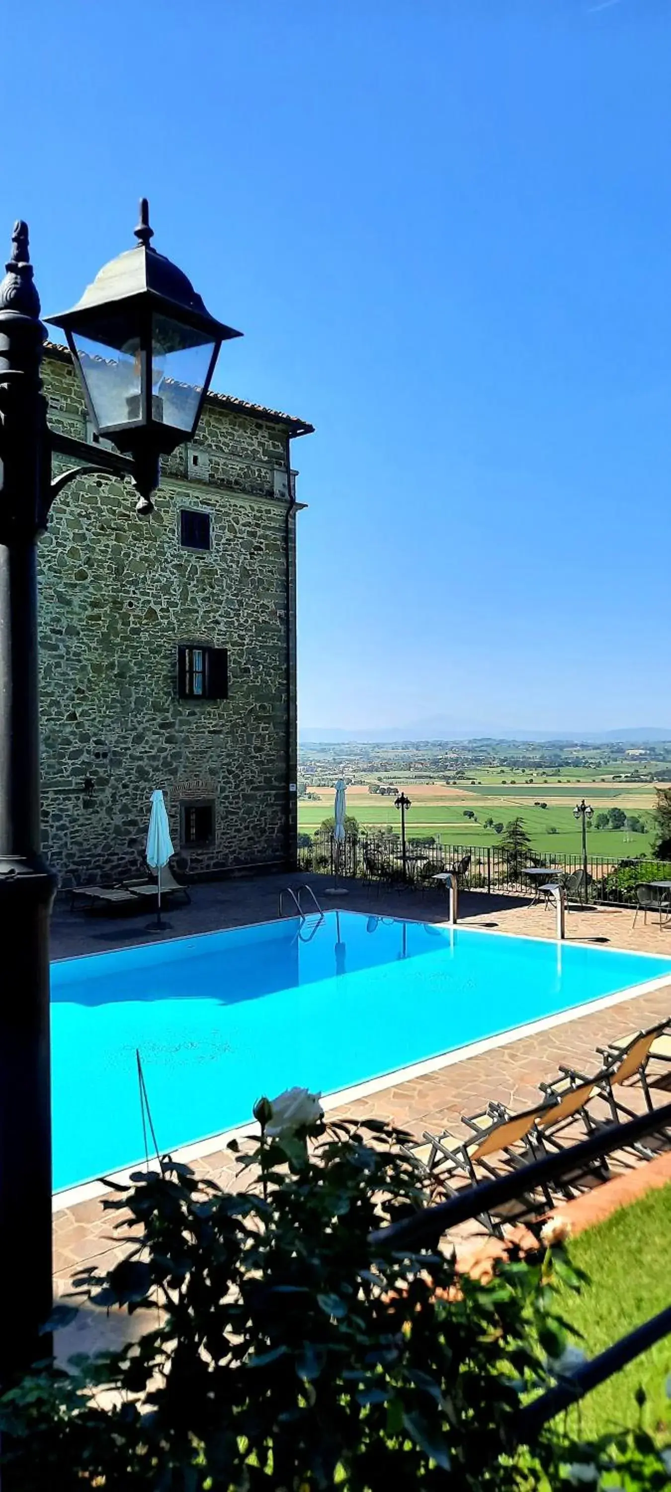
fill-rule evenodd
<path id="1" fill-rule="evenodd" d="M 45 312 L 146 194 L 216 386 L 318 427 L 304 725 L 671 725 L 670 67 L 668 0 L 4 15 Z"/>

